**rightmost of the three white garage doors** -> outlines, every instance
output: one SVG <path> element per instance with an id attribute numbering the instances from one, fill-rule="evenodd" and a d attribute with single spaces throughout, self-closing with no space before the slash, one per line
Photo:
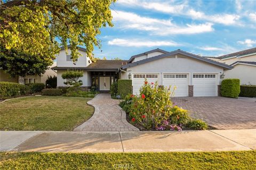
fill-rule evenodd
<path id="1" fill-rule="evenodd" d="M 217 96 L 217 74 L 193 74 L 194 96 Z"/>

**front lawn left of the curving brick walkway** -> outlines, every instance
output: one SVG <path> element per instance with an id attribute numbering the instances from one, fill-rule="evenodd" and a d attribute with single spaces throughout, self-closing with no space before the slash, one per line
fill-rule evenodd
<path id="1" fill-rule="evenodd" d="M 71 131 L 88 120 L 94 108 L 89 98 L 36 96 L 0 104 L 0 130 Z"/>

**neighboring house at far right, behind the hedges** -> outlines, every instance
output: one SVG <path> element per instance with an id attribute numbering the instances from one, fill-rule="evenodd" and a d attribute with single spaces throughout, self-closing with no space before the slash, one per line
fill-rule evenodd
<path id="1" fill-rule="evenodd" d="M 256 48 L 207 58 L 234 67 L 232 70 L 226 70 L 224 72 L 225 79 L 237 78 L 240 79 L 241 84 L 256 85 Z"/>

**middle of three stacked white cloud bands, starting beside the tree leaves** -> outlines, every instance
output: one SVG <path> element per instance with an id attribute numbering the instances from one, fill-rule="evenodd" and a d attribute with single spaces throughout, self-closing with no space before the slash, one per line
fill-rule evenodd
<path id="1" fill-rule="evenodd" d="M 155 35 L 194 34 L 211 32 L 212 23 L 177 25 L 171 20 L 143 17 L 131 12 L 112 11 L 113 22 L 123 29 L 150 31 Z"/>

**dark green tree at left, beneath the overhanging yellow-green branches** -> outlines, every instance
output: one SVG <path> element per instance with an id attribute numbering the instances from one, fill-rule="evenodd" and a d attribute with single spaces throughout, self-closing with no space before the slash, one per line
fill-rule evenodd
<path id="1" fill-rule="evenodd" d="M 13 48 L 6 50 L 0 45 L 0 67 L 11 77 L 25 77 L 26 75 L 41 75 L 52 64 L 46 56 L 28 55 Z"/>

